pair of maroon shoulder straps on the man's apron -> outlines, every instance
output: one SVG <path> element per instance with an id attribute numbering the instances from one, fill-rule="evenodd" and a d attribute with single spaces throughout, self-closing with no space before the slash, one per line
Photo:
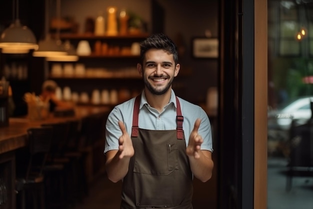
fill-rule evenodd
<path id="1" fill-rule="evenodd" d="M 140 106 L 140 98 L 141 94 L 136 96 L 135 103 L 133 106 L 133 116 L 132 116 L 132 127 L 131 127 L 131 137 L 138 136 L 138 116 L 139 116 L 139 106 Z M 182 123 L 183 123 L 183 116 L 181 115 L 180 103 L 178 98 L 176 97 L 176 132 L 177 132 L 177 139 L 183 139 L 183 130 L 182 130 Z"/>

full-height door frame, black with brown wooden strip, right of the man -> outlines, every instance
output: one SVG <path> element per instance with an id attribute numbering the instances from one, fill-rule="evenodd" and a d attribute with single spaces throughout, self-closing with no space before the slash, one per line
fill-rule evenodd
<path id="1" fill-rule="evenodd" d="M 267 206 L 267 0 L 220 0 L 218 205 Z"/>

